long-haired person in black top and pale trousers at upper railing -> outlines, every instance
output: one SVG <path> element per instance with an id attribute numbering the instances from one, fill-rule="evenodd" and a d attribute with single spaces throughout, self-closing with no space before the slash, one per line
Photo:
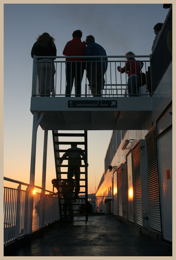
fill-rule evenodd
<path id="1" fill-rule="evenodd" d="M 55 39 L 48 33 L 39 35 L 31 50 L 31 57 L 36 56 L 56 56 Z M 37 76 L 39 82 L 39 94 L 50 96 L 54 88 L 55 66 L 54 59 L 38 59 Z"/>

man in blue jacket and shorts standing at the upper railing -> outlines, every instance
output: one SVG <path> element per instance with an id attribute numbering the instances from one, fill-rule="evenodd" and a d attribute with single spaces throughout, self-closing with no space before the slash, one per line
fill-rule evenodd
<path id="1" fill-rule="evenodd" d="M 86 36 L 86 51 L 85 56 L 107 56 L 105 49 L 95 43 L 95 38 L 92 35 Z M 87 65 L 87 79 L 89 81 L 89 88 L 94 97 L 102 96 L 101 90 L 104 89 L 105 79 L 104 74 L 108 67 L 108 58 L 87 58 L 86 61 L 95 61 L 95 62 L 86 62 Z M 103 60 L 103 62 L 101 62 Z M 100 61 L 100 62 L 96 62 Z M 103 79 L 103 82 L 102 82 Z"/>

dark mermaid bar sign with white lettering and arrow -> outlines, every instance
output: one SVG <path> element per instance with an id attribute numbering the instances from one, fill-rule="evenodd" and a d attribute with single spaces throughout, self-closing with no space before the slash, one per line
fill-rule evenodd
<path id="1" fill-rule="evenodd" d="M 116 100 L 68 100 L 68 107 L 117 107 Z"/>

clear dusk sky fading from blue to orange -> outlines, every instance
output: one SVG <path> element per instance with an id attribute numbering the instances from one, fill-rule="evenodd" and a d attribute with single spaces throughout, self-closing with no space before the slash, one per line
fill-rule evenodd
<path id="1" fill-rule="evenodd" d="M 36 37 L 53 35 L 62 56 L 74 30 L 82 41 L 92 34 L 107 55 L 149 55 L 153 27 L 164 22 L 163 4 L 4 4 L 4 176 L 29 183 L 33 115 L 30 112 Z M 112 129 L 113 130 L 113 129 Z M 104 172 L 112 131 L 88 131 L 88 193 L 95 193 Z M 37 131 L 35 185 L 41 186 L 44 131 Z M 52 132 L 48 132 L 46 189 L 55 178 Z M 4 186 L 17 184 L 4 181 Z M 22 186 L 23 189 L 26 187 Z"/>

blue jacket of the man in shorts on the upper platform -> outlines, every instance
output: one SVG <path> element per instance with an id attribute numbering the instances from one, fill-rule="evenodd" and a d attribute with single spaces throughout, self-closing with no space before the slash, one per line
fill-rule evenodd
<path id="1" fill-rule="evenodd" d="M 85 50 L 85 56 L 107 56 L 105 49 L 98 43 L 91 42 L 87 45 Z M 86 61 L 101 61 L 101 58 L 85 58 Z M 108 68 L 108 58 L 103 58 L 103 68 L 105 71 Z M 91 66 L 91 63 L 87 62 L 87 69 Z M 96 66 L 96 62 L 92 62 L 92 67 Z M 97 62 L 97 66 L 102 66 L 102 62 Z"/>

